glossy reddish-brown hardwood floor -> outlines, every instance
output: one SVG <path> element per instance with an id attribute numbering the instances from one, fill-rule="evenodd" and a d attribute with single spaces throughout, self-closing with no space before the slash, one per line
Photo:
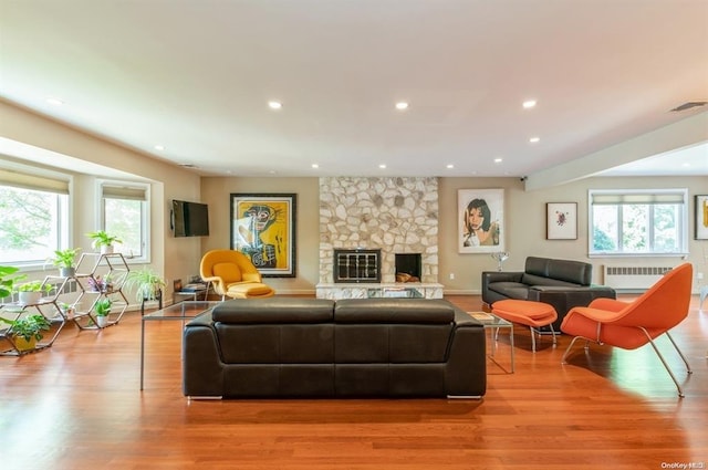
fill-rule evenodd
<path id="1" fill-rule="evenodd" d="M 448 297 L 479 310 L 478 296 Z M 66 327 L 54 345 L 0 357 L 0 466 L 22 469 L 664 469 L 708 464 L 708 311 L 694 296 L 650 346 L 582 347 L 543 337 L 531 353 L 517 328 L 516 373 L 488 363 L 482 400 L 188 401 L 180 391 L 180 322 L 146 325 L 139 391 L 139 313 L 102 332 Z M 496 358 L 509 365 L 501 334 Z M 697 466 L 702 467 L 697 467 Z M 686 467 L 689 468 L 689 467 Z"/>

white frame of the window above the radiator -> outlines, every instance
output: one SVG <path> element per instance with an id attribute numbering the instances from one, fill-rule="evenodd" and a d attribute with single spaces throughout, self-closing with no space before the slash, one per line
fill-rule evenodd
<path id="1" fill-rule="evenodd" d="M 653 205 L 650 202 L 652 199 L 662 199 L 667 197 L 680 197 L 681 202 L 679 209 L 679 220 L 677 220 L 677 231 L 678 231 L 678 251 L 674 252 L 657 252 L 653 251 L 654 246 L 654 218 L 650 217 L 648 221 L 648 233 L 647 239 L 652 246 L 652 251 L 645 252 L 624 252 L 624 251 L 594 251 L 594 211 L 593 211 L 593 199 L 594 196 L 605 196 L 605 197 L 616 197 L 618 199 L 628 198 L 628 199 L 639 199 L 638 201 L 632 202 L 627 201 L 624 203 L 642 203 L 642 198 L 646 198 L 647 201 L 645 205 Z M 621 206 L 623 202 L 617 202 L 614 206 Z M 688 188 L 649 188 L 649 189 L 589 189 L 587 190 L 587 257 L 589 258 L 641 258 L 641 257 L 685 257 L 688 255 L 688 224 L 689 224 L 689 215 L 688 215 Z M 652 208 L 649 208 L 652 209 Z M 652 210 L 649 210 L 653 213 Z M 622 218 L 618 218 L 618 224 L 622 226 Z"/>

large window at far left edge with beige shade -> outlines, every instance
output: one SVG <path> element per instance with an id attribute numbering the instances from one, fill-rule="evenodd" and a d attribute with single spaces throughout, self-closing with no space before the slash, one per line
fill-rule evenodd
<path id="1" fill-rule="evenodd" d="M 27 171 L 27 173 L 25 173 Z M 69 180 L 0 168 L 0 264 L 44 264 L 69 248 Z"/>

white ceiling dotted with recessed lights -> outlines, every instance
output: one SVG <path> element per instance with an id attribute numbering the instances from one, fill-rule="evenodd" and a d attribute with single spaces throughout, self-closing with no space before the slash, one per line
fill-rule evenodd
<path id="1" fill-rule="evenodd" d="M 708 1 L 0 0 L 0 100 L 201 175 L 521 177 L 708 112 Z"/>

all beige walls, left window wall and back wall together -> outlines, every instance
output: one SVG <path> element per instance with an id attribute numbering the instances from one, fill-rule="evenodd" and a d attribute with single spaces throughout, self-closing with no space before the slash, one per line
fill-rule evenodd
<path id="1" fill-rule="evenodd" d="M 212 248 L 228 248 L 231 220 L 229 213 L 231 192 L 295 192 L 298 194 L 298 276 L 270 279 L 281 293 L 314 293 L 319 282 L 319 180 L 317 178 L 199 178 L 189 170 L 152 159 L 139 153 L 92 137 L 53 121 L 28 113 L 0 102 L 0 139 L 25 143 L 41 149 L 50 149 L 58 157 L 67 156 L 85 163 L 86 176 L 77 180 L 91 180 L 96 168 L 118 170 L 124 175 L 148 179 L 153 190 L 153 263 L 152 267 L 171 280 L 197 274 L 202 252 Z M 0 142 L 1 144 L 2 142 Z M 2 147 L 0 146 L 0 152 Z M 440 178 L 439 190 L 439 282 L 446 293 L 479 293 L 480 273 L 494 270 L 496 262 L 489 254 L 460 254 L 457 252 L 457 190 L 504 189 L 507 226 L 506 249 L 511 258 L 504 269 L 521 269 L 527 255 L 542 255 L 587 261 L 587 189 L 590 188 L 677 188 L 687 187 L 690 197 L 690 242 L 688 257 L 697 271 L 708 276 L 708 241 L 693 240 L 693 197 L 708 194 L 708 180 L 698 177 L 654 178 L 589 178 L 552 188 L 524 190 L 518 178 Z M 79 191 L 77 191 L 79 192 Z M 79 192 L 81 194 L 81 192 Z M 175 239 L 169 231 L 168 205 L 171 199 L 201 201 L 209 205 L 211 236 L 206 238 Z M 84 200 L 85 202 L 85 200 Z M 77 238 L 82 238 L 93 223 L 93 213 L 79 205 Z M 577 202 L 579 239 L 545 240 L 545 203 Z M 77 246 L 79 246 L 79 240 Z M 622 262 L 656 264 L 655 260 L 633 258 Z M 589 260 L 595 267 L 594 280 L 600 282 L 603 259 Z M 683 260 L 674 257 L 662 259 L 667 265 Z M 615 262 L 622 264 L 622 262 Z M 455 280 L 449 274 L 455 274 Z"/>

